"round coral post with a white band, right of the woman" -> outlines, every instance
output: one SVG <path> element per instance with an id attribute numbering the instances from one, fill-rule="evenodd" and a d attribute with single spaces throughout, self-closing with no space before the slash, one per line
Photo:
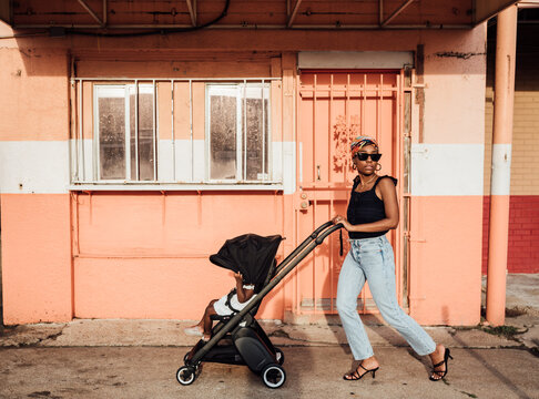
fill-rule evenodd
<path id="1" fill-rule="evenodd" d="M 487 269 L 487 321 L 492 326 L 501 326 L 506 319 L 517 13 L 516 6 L 498 13 L 496 38 L 492 174 Z"/>

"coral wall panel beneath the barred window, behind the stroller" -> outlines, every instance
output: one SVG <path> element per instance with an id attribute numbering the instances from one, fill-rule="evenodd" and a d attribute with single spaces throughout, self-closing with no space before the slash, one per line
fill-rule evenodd
<path id="1" fill-rule="evenodd" d="M 267 193 L 94 193 L 72 204 L 78 317 L 195 319 L 234 287 L 210 255 L 241 234 L 283 234 L 283 196 Z M 282 307 L 261 315 L 282 318 Z"/>

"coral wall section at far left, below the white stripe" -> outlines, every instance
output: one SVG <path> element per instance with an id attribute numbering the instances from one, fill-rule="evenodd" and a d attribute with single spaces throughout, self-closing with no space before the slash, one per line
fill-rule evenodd
<path id="1" fill-rule="evenodd" d="M 68 194 L 2 194 L 3 321 L 69 321 L 72 265 Z"/>

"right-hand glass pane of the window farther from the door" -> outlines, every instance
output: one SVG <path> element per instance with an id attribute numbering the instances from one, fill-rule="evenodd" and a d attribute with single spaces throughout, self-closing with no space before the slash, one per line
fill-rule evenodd
<path id="1" fill-rule="evenodd" d="M 131 180 L 136 180 L 135 89 L 130 88 Z M 153 88 L 139 85 L 139 180 L 153 180 Z"/>

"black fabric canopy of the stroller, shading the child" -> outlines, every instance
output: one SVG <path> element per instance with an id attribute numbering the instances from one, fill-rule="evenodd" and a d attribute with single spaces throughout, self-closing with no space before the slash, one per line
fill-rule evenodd
<path id="1" fill-rule="evenodd" d="M 234 273 L 240 272 L 246 284 L 262 284 L 282 241 L 279 235 L 244 234 L 227 239 L 218 253 L 210 256 L 210 260 Z"/>

